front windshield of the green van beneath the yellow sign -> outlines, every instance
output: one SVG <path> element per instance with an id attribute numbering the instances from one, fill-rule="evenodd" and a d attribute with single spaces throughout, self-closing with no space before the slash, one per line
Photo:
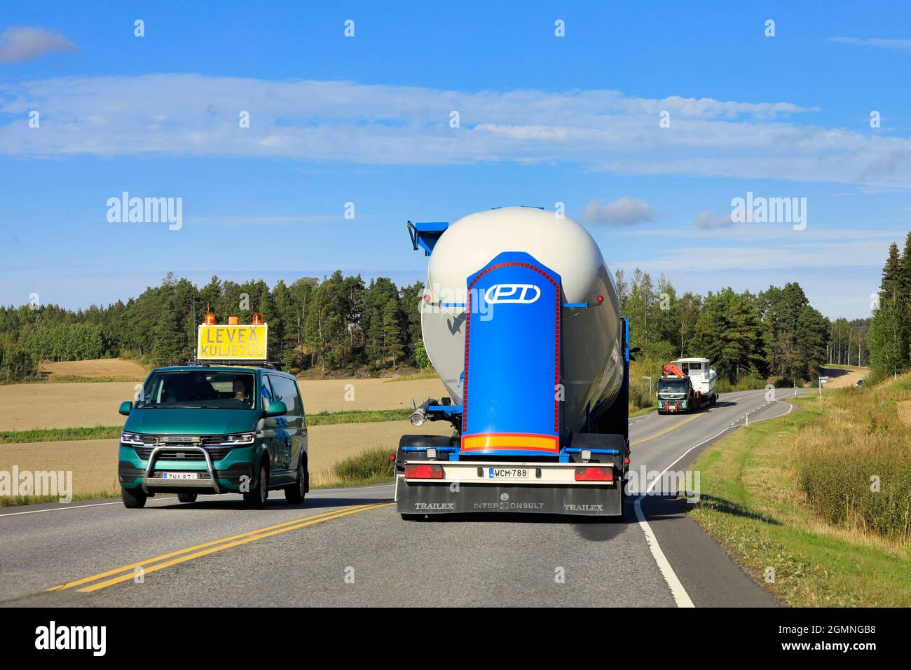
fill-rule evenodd
<path id="1" fill-rule="evenodd" d="M 138 409 L 254 409 L 256 376 L 251 372 L 178 370 L 148 377 Z"/>

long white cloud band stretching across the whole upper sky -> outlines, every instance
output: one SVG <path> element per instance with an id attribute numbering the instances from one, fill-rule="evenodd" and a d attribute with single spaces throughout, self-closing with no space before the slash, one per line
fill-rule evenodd
<path id="1" fill-rule="evenodd" d="M 21 123 L 41 111 L 40 132 Z M 461 128 L 449 127 L 458 110 Z M 241 111 L 251 126 L 239 128 Z M 670 128 L 660 128 L 660 112 Z M 285 157 L 363 165 L 566 162 L 623 174 L 911 187 L 911 139 L 801 125 L 787 102 L 618 91 L 459 92 L 200 75 L 0 84 L 0 152 Z M 8 115 L 4 118 L 3 115 Z"/>

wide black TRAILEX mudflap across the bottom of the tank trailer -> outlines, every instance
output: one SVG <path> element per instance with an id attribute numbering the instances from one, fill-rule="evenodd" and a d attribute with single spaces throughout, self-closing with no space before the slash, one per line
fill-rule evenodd
<path id="1" fill-rule="evenodd" d="M 587 486 L 523 486 L 407 482 L 396 486 L 400 514 L 515 512 L 573 516 L 621 516 L 622 482 Z"/>

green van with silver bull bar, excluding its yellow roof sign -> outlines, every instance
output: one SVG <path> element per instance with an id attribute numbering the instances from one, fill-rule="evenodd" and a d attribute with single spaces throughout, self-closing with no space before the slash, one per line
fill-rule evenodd
<path id="1" fill-rule="evenodd" d="M 294 376 L 269 367 L 173 366 L 148 375 L 120 437 L 123 504 L 156 493 L 195 502 L 241 493 L 253 508 L 270 490 L 300 503 L 310 490 L 307 422 Z"/>

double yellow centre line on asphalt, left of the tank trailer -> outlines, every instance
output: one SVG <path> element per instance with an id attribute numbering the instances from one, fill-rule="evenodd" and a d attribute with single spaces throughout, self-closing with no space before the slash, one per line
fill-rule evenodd
<path id="1" fill-rule="evenodd" d="M 165 568 L 169 568 L 172 565 L 192 561 L 193 559 L 200 558 L 201 556 L 208 556 L 209 554 L 223 551 L 225 549 L 230 549 L 231 547 L 238 547 L 241 544 L 247 544 L 252 541 L 262 540 L 263 538 L 279 535 L 283 532 L 297 531 L 298 529 L 304 528 L 306 526 L 312 526 L 315 523 L 322 523 L 323 521 L 339 519 L 340 517 L 348 516 L 349 514 L 356 514 L 357 512 L 367 510 L 377 510 L 381 507 L 388 507 L 394 504 L 394 502 L 381 502 L 375 504 L 355 505 L 354 507 L 344 508 L 343 510 L 327 511 L 322 512 L 322 514 L 314 514 L 312 517 L 303 517 L 302 519 L 294 519 L 292 521 L 276 523 L 274 526 L 267 526 L 266 528 L 261 528 L 257 531 L 241 532 L 238 535 L 231 535 L 230 537 L 222 538 L 221 540 L 203 542 L 202 544 L 196 544 L 192 547 L 187 547 L 186 549 L 163 553 L 160 556 L 155 556 L 154 558 L 146 559 L 145 561 L 130 563 L 129 565 L 123 565 L 119 568 L 115 568 L 114 570 L 108 570 L 107 572 L 98 572 L 97 574 L 93 574 L 89 577 L 77 579 L 74 582 L 67 582 L 58 586 L 52 586 L 51 588 L 47 589 L 47 591 L 66 591 L 67 589 L 73 589 L 77 586 L 83 586 L 83 588 L 77 589 L 79 593 L 92 593 L 93 591 L 105 589 L 108 586 L 113 586 L 114 584 L 127 582 L 128 580 L 134 579 L 136 577 L 136 573 L 140 572 L 137 571 L 137 568 L 141 568 L 141 573 L 143 575 L 148 574 L 149 572 L 158 572 L 159 570 L 164 570 Z M 110 579 L 105 579 L 105 577 L 110 577 Z M 103 581 L 99 582 L 98 580 Z M 84 586 L 84 584 L 88 585 Z"/>

